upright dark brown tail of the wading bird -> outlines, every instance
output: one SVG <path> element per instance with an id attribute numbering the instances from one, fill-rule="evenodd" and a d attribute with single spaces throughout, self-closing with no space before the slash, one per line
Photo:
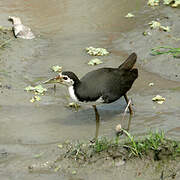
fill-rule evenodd
<path id="1" fill-rule="evenodd" d="M 120 66 L 119 69 L 131 70 L 136 63 L 137 55 L 132 53 Z"/>

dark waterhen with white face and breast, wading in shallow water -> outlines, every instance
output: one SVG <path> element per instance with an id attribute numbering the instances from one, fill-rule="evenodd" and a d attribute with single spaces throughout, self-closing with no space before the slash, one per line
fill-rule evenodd
<path id="1" fill-rule="evenodd" d="M 96 105 L 113 103 L 122 96 L 126 103 L 129 103 L 127 92 L 138 78 L 138 69 L 133 68 L 136 59 L 137 55 L 133 52 L 119 67 L 99 68 L 88 72 L 81 79 L 74 72 L 63 71 L 58 76 L 45 81 L 44 84 L 60 83 L 67 86 L 73 101 L 92 105 L 98 122 L 100 116 Z M 132 115 L 131 104 L 128 108 Z"/>

